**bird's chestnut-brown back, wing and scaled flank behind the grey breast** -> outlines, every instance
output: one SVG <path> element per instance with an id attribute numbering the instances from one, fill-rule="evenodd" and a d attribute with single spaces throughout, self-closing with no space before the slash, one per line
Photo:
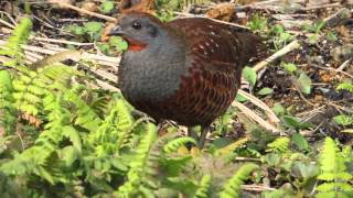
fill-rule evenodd
<path id="1" fill-rule="evenodd" d="M 168 23 L 189 44 L 186 67 L 178 92 L 162 105 L 165 119 L 184 125 L 210 124 L 226 111 L 240 84 L 244 64 L 256 54 L 250 33 L 237 33 L 207 19 Z M 255 37 L 255 36 L 254 36 Z M 244 42 L 243 42 L 244 41 Z"/>

